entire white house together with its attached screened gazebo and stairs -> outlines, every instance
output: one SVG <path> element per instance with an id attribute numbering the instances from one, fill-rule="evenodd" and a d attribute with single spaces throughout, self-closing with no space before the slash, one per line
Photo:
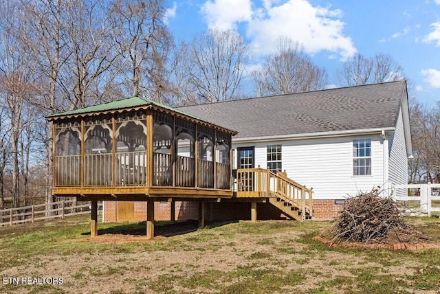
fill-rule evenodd
<path id="1" fill-rule="evenodd" d="M 129 98 L 47 120 L 52 193 L 104 201 L 104 221 L 147 218 L 147 232 L 154 219 L 333 218 L 347 195 L 406 183 L 412 154 L 405 81 L 178 108 Z"/>

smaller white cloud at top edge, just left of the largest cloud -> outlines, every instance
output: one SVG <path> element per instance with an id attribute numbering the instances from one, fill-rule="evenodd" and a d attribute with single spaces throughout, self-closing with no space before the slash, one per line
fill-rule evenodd
<path id="1" fill-rule="evenodd" d="M 209 28 L 234 30 L 237 23 L 250 21 L 251 0 L 208 0 L 201 7 Z"/>

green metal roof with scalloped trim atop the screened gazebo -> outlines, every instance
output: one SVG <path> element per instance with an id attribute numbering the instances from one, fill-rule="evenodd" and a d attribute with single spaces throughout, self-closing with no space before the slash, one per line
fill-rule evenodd
<path id="1" fill-rule="evenodd" d="M 115 111 L 115 110 L 119 110 L 119 109 L 120 110 L 132 109 L 133 107 L 150 106 L 150 105 L 156 106 L 159 109 L 166 109 L 166 110 L 172 111 L 174 113 L 179 113 L 181 115 L 193 118 L 195 120 L 199 120 L 201 122 L 206 122 L 212 126 L 218 126 L 218 127 L 223 128 L 225 130 L 231 131 L 232 133 L 237 133 L 232 128 L 225 128 L 224 126 L 221 126 L 219 124 L 214 124 L 214 123 L 209 122 L 205 119 L 199 118 L 195 115 L 185 113 L 184 111 L 177 110 L 177 109 L 170 107 L 168 105 L 154 102 L 154 101 L 148 100 L 146 98 L 138 97 L 138 96 L 135 96 L 132 98 L 126 98 L 123 100 L 117 100 L 117 101 L 113 101 L 113 102 L 98 104 L 98 105 L 94 105 L 94 106 L 89 106 L 89 107 L 85 107 L 83 109 L 74 109 L 72 111 L 64 111 L 62 113 L 54 113 L 51 115 L 47 115 L 45 118 L 47 120 L 52 120 L 52 119 L 56 119 L 56 117 L 76 117 L 76 116 L 83 116 L 83 115 L 92 114 L 92 113 L 102 113 L 102 112 L 107 112 L 107 111 Z"/>

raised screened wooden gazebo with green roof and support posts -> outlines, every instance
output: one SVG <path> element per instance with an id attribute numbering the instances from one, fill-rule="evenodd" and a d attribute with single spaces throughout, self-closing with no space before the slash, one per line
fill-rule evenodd
<path id="1" fill-rule="evenodd" d="M 236 131 L 140 97 L 46 119 L 54 138 L 52 194 L 91 201 L 91 236 L 98 234 L 98 201 L 147 201 L 153 238 L 155 201 L 233 196 Z"/>

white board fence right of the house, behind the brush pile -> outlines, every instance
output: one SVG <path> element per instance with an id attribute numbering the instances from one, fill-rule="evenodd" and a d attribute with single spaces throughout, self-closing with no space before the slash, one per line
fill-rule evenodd
<path id="1" fill-rule="evenodd" d="M 406 190 L 406 196 L 397 196 L 397 190 Z M 432 216 L 432 212 L 440 213 L 440 183 L 432 184 L 407 184 L 394 185 L 393 198 L 397 201 L 405 201 L 407 212 L 415 215 L 426 214 Z"/>

